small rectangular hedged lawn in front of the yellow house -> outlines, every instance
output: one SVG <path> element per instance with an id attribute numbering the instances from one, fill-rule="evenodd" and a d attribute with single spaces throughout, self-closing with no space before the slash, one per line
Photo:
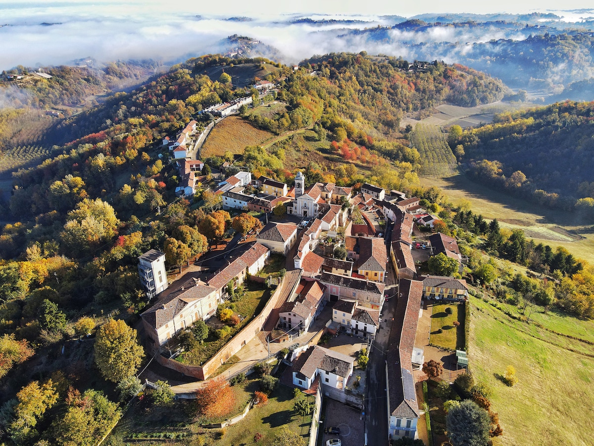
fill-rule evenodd
<path id="1" fill-rule="evenodd" d="M 451 308 L 452 313 L 448 315 L 446 308 Z M 454 322 L 460 322 L 459 326 L 454 326 Z M 439 329 L 443 332 L 438 333 Z M 449 348 L 450 350 L 464 350 L 464 305 L 463 304 L 443 304 L 434 305 L 431 312 L 431 334 L 429 343 L 434 346 Z"/>

